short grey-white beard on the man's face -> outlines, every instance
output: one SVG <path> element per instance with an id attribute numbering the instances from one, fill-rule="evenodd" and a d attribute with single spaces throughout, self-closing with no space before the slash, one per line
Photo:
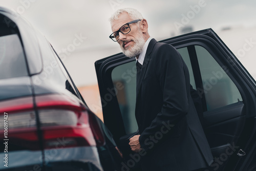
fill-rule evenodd
<path id="1" fill-rule="evenodd" d="M 137 38 L 134 39 L 134 42 L 134 46 L 127 50 L 120 46 L 125 56 L 132 58 L 139 55 L 142 52 L 143 46 L 145 44 L 143 34 L 138 34 Z"/>

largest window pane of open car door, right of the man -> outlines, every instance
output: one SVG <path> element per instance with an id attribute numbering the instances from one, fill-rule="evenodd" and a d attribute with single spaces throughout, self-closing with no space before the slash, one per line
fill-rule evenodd
<path id="1" fill-rule="evenodd" d="M 207 111 L 242 101 L 238 88 L 226 73 L 227 67 L 221 67 L 202 46 L 195 49 L 203 81 L 203 90 L 198 92 L 205 95 Z"/>

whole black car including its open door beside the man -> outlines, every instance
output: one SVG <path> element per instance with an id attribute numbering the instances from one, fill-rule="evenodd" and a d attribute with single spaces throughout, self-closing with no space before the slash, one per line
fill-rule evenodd
<path id="1" fill-rule="evenodd" d="M 5 8 L 0 22 L 0 169 L 139 170 L 127 146 L 138 131 L 135 58 L 95 62 L 103 124 L 44 36 Z M 178 49 L 201 97 L 214 155 L 206 170 L 256 170 L 253 78 L 211 29 L 162 42 Z"/>

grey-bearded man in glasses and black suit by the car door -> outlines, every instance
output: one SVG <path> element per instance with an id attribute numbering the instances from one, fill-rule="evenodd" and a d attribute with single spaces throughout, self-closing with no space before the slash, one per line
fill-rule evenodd
<path id="1" fill-rule="evenodd" d="M 148 34 L 147 20 L 132 8 L 110 18 L 113 33 L 127 57 L 136 57 L 135 116 L 139 135 L 132 151 L 144 150 L 142 170 L 200 170 L 213 161 L 193 99 L 188 69 L 178 51 Z M 161 139 L 156 136 L 161 133 Z"/>

